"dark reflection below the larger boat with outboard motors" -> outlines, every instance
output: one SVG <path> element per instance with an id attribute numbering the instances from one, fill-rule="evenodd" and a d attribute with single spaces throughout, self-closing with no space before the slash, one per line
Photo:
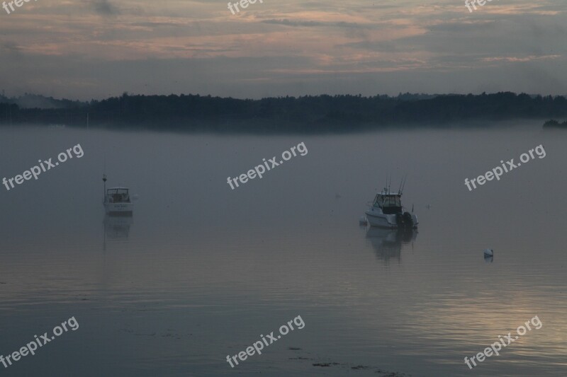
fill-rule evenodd
<path id="1" fill-rule="evenodd" d="M 401 260 L 403 245 L 412 243 L 417 238 L 417 230 L 412 228 L 384 229 L 369 226 L 366 239 L 376 251 L 376 257 L 388 263 L 392 258 Z"/>

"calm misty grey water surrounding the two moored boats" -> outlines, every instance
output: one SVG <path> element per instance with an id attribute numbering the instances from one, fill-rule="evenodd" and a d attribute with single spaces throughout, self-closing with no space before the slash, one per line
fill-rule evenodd
<path id="1" fill-rule="evenodd" d="M 0 186 L 0 354 L 79 323 L 0 370 L 566 376 L 567 133 L 539 124 L 319 137 L 1 129 L 2 177 L 79 143 L 84 156 Z M 229 175 L 302 141 L 306 156 L 230 190 Z M 539 144 L 545 158 L 466 189 Z M 133 218 L 105 217 L 104 171 L 139 195 Z M 408 174 L 417 233 L 358 224 L 388 173 L 395 190 Z M 230 368 L 228 354 L 297 315 L 302 330 Z M 541 329 L 469 371 L 464 356 L 534 315 Z"/>

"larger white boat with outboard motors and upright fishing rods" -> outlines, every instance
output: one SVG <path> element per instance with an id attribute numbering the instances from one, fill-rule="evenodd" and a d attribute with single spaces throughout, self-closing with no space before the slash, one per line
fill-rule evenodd
<path id="1" fill-rule="evenodd" d="M 364 214 L 371 226 L 381 228 L 417 228 L 417 215 L 404 211 L 402 207 L 402 192 L 390 192 L 382 190 L 376 194 L 374 202 L 369 205 Z"/>

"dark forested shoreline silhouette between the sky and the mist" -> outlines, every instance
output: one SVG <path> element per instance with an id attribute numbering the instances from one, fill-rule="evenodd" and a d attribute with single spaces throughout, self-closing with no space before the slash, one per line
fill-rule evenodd
<path id="1" fill-rule="evenodd" d="M 1 98 L 0 98 L 1 99 Z M 52 100 L 52 98 L 51 98 Z M 563 96 L 307 95 L 240 100 L 210 95 L 129 95 L 106 100 L 60 100 L 57 108 L 0 103 L 0 124 L 67 124 L 113 129 L 213 132 L 348 132 L 404 125 L 435 126 L 520 118 L 567 117 Z M 67 104 L 66 107 L 61 107 Z"/>

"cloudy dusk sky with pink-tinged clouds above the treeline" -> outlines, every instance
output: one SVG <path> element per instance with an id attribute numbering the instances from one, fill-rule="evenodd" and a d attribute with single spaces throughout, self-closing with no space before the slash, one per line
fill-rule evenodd
<path id="1" fill-rule="evenodd" d="M 228 0 L 30 0 L 0 8 L 0 90 L 566 95 L 566 5 L 258 0 L 232 14 Z"/>

